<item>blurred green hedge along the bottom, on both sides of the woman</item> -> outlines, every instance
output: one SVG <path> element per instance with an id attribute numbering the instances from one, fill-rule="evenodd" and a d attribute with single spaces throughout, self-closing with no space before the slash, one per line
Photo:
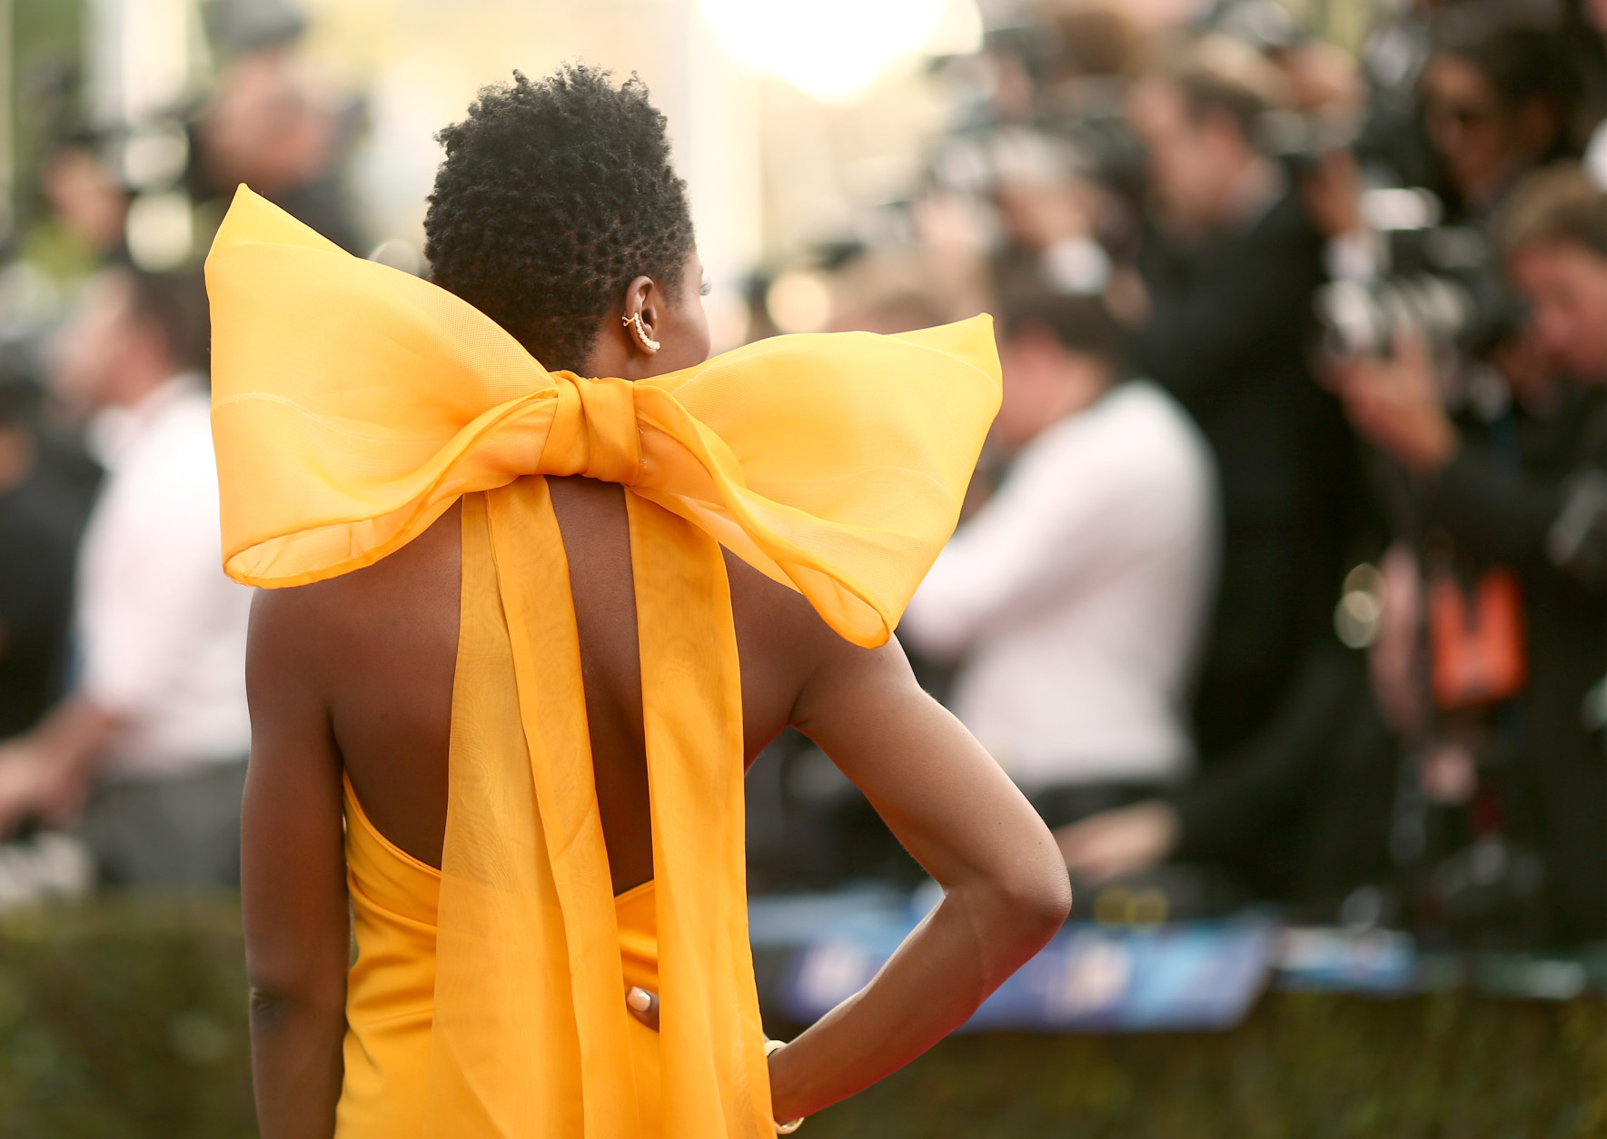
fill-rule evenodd
<path id="1" fill-rule="evenodd" d="M 0 1139 L 252 1134 L 236 903 L 0 921 Z M 958 1036 L 808 1136 L 1607 1136 L 1607 1001 L 1276 993 L 1229 1033 Z"/>

